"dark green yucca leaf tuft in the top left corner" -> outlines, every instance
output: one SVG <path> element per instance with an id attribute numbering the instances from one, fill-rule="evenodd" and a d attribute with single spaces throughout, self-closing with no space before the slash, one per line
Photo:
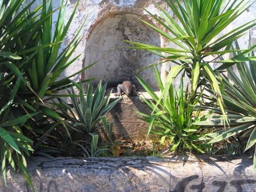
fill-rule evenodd
<path id="1" fill-rule="evenodd" d="M 21 59 L 17 54 L 15 55 L 15 53 L 19 51 L 19 46 L 15 45 L 15 43 L 18 42 L 20 37 L 31 32 L 31 28 L 27 28 L 28 26 L 36 27 L 35 23 L 31 24 L 31 20 L 36 19 L 36 13 L 40 7 L 28 14 L 28 10 L 35 1 L 31 1 L 26 6 L 24 6 L 24 1 L 25 0 L 2 0 L 0 2 L 1 62 L 6 61 L 6 59 Z M 38 23 L 40 23 L 40 21 L 38 21 Z"/>

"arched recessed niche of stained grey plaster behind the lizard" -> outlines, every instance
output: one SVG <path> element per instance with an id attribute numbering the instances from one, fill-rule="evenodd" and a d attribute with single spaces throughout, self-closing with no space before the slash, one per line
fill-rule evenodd
<path id="1" fill-rule="evenodd" d="M 85 66 L 98 62 L 85 70 L 85 78 L 97 77 L 95 84 L 100 80 L 108 81 L 110 87 L 129 80 L 140 87 L 134 72 L 152 64 L 159 57 L 151 52 L 128 48 L 130 44 L 123 40 L 159 47 L 161 44 L 160 35 L 143 24 L 138 15 L 122 13 L 106 18 L 92 30 L 86 41 Z M 158 90 L 153 68 L 141 70 L 139 74 L 152 89 Z"/>

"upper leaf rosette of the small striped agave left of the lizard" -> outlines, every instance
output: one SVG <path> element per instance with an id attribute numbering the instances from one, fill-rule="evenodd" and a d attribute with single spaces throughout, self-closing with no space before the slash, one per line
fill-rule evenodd
<path id="1" fill-rule="evenodd" d="M 65 106 L 60 108 L 60 110 L 64 115 L 63 117 L 71 122 L 69 123 L 71 128 L 81 133 L 93 133 L 101 117 L 105 116 L 120 101 L 121 97 L 110 103 L 111 92 L 105 97 L 107 84 L 102 86 L 101 82 L 98 84 L 94 93 L 92 82 L 90 82 L 86 97 L 81 84 L 79 85 L 73 82 L 73 85 L 79 89 L 80 97 L 74 97 L 76 92 L 72 87 L 71 90 L 68 90 L 71 106 L 59 100 Z"/>

